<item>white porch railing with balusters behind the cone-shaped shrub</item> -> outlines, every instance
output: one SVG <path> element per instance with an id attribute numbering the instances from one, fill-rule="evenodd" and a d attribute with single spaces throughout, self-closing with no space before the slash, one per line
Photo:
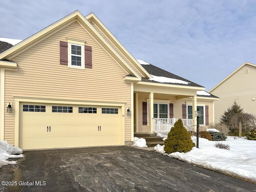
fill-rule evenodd
<path id="1" fill-rule="evenodd" d="M 186 130 L 193 131 L 193 119 L 181 120 Z M 167 136 L 176 121 L 178 121 L 178 118 L 153 118 L 153 132 Z"/>

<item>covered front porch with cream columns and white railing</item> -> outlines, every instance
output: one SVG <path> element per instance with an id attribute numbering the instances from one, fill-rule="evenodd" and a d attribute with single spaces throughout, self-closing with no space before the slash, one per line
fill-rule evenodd
<path id="1" fill-rule="evenodd" d="M 188 131 L 196 129 L 196 92 L 203 88 L 164 86 L 134 85 L 134 133 L 167 135 L 178 119 Z"/>

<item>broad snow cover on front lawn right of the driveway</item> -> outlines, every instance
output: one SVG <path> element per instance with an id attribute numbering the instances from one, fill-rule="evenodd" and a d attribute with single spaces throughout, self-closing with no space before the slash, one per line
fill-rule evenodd
<path id="1" fill-rule="evenodd" d="M 196 137 L 191 139 L 196 143 Z M 230 150 L 214 147 L 217 142 L 230 145 Z M 187 153 L 175 152 L 166 154 L 169 157 L 177 158 L 189 164 L 231 174 L 246 178 L 256 182 L 256 141 L 246 138 L 236 138 L 228 136 L 226 141 L 209 141 L 199 138 L 199 148 L 193 149 Z M 159 144 L 154 147 L 156 152 L 165 154 L 164 145 Z"/>

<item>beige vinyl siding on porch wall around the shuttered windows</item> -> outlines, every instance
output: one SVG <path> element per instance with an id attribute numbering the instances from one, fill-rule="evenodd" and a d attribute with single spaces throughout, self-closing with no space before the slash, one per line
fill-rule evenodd
<path id="1" fill-rule="evenodd" d="M 149 126 L 145 126 L 142 124 L 142 102 L 146 102 L 148 99 L 148 93 L 139 93 L 138 94 L 138 118 L 139 118 L 139 125 L 138 130 L 139 132 L 148 132 Z M 174 118 L 181 118 L 182 119 L 182 104 L 192 104 L 192 99 L 179 99 L 176 100 L 176 96 L 166 95 L 166 94 L 154 94 L 154 99 L 158 100 L 170 100 L 170 103 L 173 104 L 173 112 Z M 212 101 L 206 100 L 197 100 L 197 105 L 209 106 L 209 123 L 213 122 L 212 115 L 213 115 L 213 108 L 212 108 Z"/>

